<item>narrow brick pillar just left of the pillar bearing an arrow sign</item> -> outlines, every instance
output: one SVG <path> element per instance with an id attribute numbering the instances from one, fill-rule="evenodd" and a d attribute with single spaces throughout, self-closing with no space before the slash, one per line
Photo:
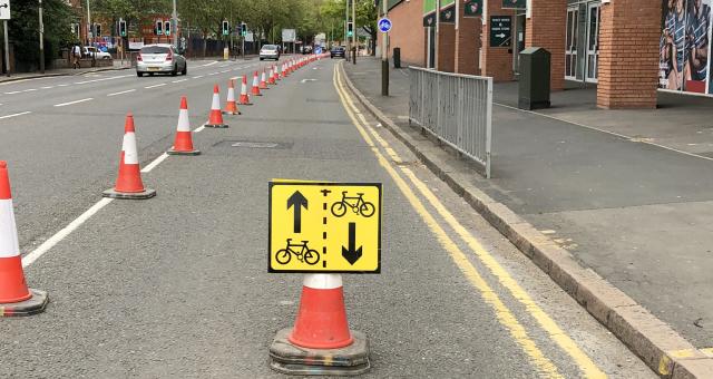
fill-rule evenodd
<path id="1" fill-rule="evenodd" d="M 478 50 L 480 47 L 480 32 L 482 20 L 480 18 L 463 17 L 460 8 L 458 30 L 456 30 L 456 67 L 455 71 L 460 74 L 479 75 Z"/>

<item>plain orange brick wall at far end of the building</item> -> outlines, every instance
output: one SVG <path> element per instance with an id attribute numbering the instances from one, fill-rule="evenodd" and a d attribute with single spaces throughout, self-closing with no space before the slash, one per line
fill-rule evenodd
<path id="1" fill-rule="evenodd" d="M 423 32 L 423 0 L 401 1 L 389 10 L 393 27 L 389 32 L 389 59 L 393 48 L 401 48 L 401 66 L 426 66 L 426 33 Z M 381 46 L 381 32 L 377 38 Z"/>

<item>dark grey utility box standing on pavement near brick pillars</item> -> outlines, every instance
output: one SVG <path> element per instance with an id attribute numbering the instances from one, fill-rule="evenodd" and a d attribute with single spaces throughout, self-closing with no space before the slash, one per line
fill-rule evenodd
<path id="1" fill-rule="evenodd" d="M 520 52 L 518 108 L 549 108 L 549 51 L 530 47 Z"/>

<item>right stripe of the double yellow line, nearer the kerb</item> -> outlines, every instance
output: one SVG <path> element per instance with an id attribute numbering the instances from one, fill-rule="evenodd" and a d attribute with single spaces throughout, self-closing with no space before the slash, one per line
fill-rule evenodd
<path id="1" fill-rule="evenodd" d="M 346 94 L 341 82 L 340 72 L 336 72 L 338 77 L 338 86 L 343 91 L 342 101 L 351 107 L 352 110 L 356 110 L 353 101 Z M 344 98 L 346 100 L 344 101 Z M 358 110 L 356 110 L 358 111 Z M 369 123 L 363 118 L 361 113 L 359 113 L 359 118 L 362 122 L 363 127 L 365 127 L 370 134 L 379 142 L 379 144 L 387 148 L 389 144 L 381 138 L 381 136 L 373 130 Z M 356 123 L 355 123 L 356 124 Z M 358 126 L 362 127 L 361 125 Z M 361 133 L 362 130 L 360 130 Z M 391 149 L 393 152 L 393 149 Z M 400 161 L 397 153 L 394 161 Z M 389 166 L 391 168 L 391 166 Z M 559 328 L 559 325 L 553 320 L 539 305 L 535 303 L 535 301 L 530 298 L 530 295 L 510 276 L 510 274 L 495 260 L 495 257 L 480 244 L 480 242 L 472 235 L 466 227 L 463 227 L 458 220 L 443 206 L 443 204 L 436 197 L 436 195 L 428 188 L 428 186 L 421 182 L 413 172 L 408 167 L 400 167 L 401 172 L 413 183 L 413 185 L 419 190 L 421 195 L 423 195 L 428 202 L 436 208 L 436 211 L 441 215 L 441 217 L 456 231 L 456 233 L 460 236 L 460 239 L 468 244 L 468 246 L 476 253 L 478 259 L 490 270 L 490 272 L 498 278 L 498 281 L 502 286 L 505 286 L 510 294 L 517 299 L 520 303 L 526 307 L 526 310 L 537 322 L 539 325 L 547 331 L 550 339 L 554 340 L 561 350 L 569 354 L 577 363 L 582 372 L 587 378 L 606 378 L 606 375 L 592 361 L 592 359 L 584 352 L 579 347 L 569 338 L 565 331 Z M 410 191 L 410 190 L 409 190 Z"/>

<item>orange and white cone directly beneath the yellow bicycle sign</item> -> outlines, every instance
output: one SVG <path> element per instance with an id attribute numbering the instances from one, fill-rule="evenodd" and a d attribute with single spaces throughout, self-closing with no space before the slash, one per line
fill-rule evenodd
<path id="1" fill-rule="evenodd" d="M 300 310 L 292 329 L 277 332 L 270 367 L 292 375 L 358 375 L 370 368 L 367 336 L 350 331 L 342 276 L 304 276 Z"/>

